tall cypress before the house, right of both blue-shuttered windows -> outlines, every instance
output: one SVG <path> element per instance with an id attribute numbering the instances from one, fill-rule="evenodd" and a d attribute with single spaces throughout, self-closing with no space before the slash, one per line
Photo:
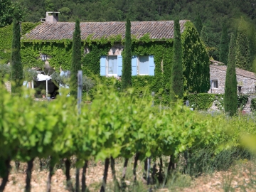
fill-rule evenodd
<path id="1" fill-rule="evenodd" d="M 178 19 L 174 21 L 174 59 L 171 70 L 171 100 L 183 97 L 183 68 L 181 31 Z"/>

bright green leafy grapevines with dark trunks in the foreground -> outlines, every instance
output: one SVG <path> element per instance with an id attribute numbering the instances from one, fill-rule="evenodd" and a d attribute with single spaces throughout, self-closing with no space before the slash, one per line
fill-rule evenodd
<path id="1" fill-rule="evenodd" d="M 129 159 L 133 159 L 133 181 L 137 182 L 138 161 L 149 170 L 151 187 L 166 182 L 166 172 L 183 159 L 182 174 L 201 174 L 219 165 L 221 156 L 230 159 L 250 156 L 245 146 L 255 143 L 255 120 L 249 116 L 228 117 L 191 111 L 183 101 L 169 106 L 154 106 L 155 95 L 144 90 L 134 97 L 134 90 L 120 92 L 113 85 L 97 85 L 93 102 L 84 103 L 80 114 L 73 97 L 60 96 L 47 102 L 36 102 L 32 90 L 23 90 L 21 97 L 0 90 L 0 191 L 8 181 L 11 161 L 28 164 L 25 191 L 31 191 L 33 160 L 50 159 L 47 191 L 54 166 L 63 159 L 68 191 L 87 191 L 85 173 L 88 161 L 105 162 L 102 187 L 107 191 L 107 172 L 110 166 L 114 191 L 127 191 L 124 185 Z M 65 92 L 64 92 L 65 93 Z M 251 148 L 250 148 L 251 149 Z M 70 157 L 75 156 L 76 182 L 70 181 Z M 162 157 L 169 159 L 163 164 Z M 122 178 L 117 179 L 115 159 L 124 159 Z M 149 159 L 151 164 L 149 164 Z M 157 160 L 157 161 L 156 161 Z M 203 163 L 202 163 L 203 162 Z M 218 164 L 216 163 L 218 162 Z M 224 165 L 225 164 L 225 165 Z M 195 166 L 196 165 L 196 166 Z M 79 170 L 82 169 L 82 186 Z"/>

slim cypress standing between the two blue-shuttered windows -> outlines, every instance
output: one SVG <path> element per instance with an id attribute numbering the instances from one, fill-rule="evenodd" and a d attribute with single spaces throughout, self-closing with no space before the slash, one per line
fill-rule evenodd
<path id="1" fill-rule="evenodd" d="M 132 38 L 131 21 L 127 18 L 124 42 L 124 60 L 122 64 L 122 88 L 132 87 Z"/>

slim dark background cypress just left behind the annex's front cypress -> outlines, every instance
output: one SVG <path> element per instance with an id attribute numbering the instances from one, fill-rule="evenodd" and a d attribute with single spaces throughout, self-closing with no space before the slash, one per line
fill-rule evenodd
<path id="1" fill-rule="evenodd" d="M 223 23 L 221 38 L 220 38 L 220 62 L 228 65 L 228 28 L 226 23 Z"/>

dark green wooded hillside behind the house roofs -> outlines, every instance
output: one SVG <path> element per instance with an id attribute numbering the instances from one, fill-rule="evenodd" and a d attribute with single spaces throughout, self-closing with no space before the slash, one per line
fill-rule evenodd
<path id="1" fill-rule="evenodd" d="M 14 6 L 27 22 L 40 21 L 46 11 L 60 11 L 59 21 L 69 22 L 126 21 L 127 16 L 131 21 L 188 19 L 201 33 L 210 57 L 225 64 L 230 35 L 235 33 L 242 44 L 237 67 L 256 71 L 256 0 L 1 0 L 0 27 L 11 23 Z"/>

